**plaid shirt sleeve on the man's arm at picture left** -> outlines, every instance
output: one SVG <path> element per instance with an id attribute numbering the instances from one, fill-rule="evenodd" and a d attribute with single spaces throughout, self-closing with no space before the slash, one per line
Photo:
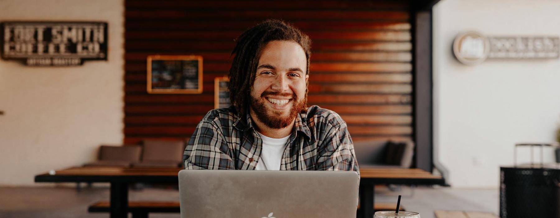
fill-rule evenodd
<path id="1" fill-rule="evenodd" d="M 229 146 L 221 128 L 204 117 L 183 153 L 185 169 L 235 169 Z"/>

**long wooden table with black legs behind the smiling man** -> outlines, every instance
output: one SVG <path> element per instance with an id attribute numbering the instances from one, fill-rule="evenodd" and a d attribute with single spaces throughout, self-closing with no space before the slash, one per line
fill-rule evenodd
<path id="1" fill-rule="evenodd" d="M 74 167 L 35 176 L 35 182 L 108 182 L 110 217 L 126 217 L 128 184 L 178 183 L 179 168 Z M 374 215 L 375 184 L 444 184 L 444 179 L 421 169 L 360 168 L 360 211 L 358 217 Z M 366 206 L 368 205 L 368 206 Z"/>

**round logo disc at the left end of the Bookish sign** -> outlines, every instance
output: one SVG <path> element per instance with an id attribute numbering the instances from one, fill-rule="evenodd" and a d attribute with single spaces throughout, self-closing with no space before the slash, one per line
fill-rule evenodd
<path id="1" fill-rule="evenodd" d="M 453 42 L 455 57 L 464 64 L 477 64 L 488 57 L 490 44 L 486 36 L 469 31 L 459 34 Z"/>

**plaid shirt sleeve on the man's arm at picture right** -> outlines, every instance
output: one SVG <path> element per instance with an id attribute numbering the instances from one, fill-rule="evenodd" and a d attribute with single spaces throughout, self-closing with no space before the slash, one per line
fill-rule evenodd
<path id="1" fill-rule="evenodd" d="M 346 123 L 340 123 L 327 131 L 318 151 L 317 170 L 356 171 L 360 175 L 352 138 Z"/>

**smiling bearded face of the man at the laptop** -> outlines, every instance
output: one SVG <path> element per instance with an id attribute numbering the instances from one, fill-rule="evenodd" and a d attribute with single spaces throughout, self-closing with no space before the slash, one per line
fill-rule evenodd
<path id="1" fill-rule="evenodd" d="M 287 127 L 305 107 L 309 75 L 304 49 L 293 41 L 270 41 L 257 66 L 251 113 L 270 128 Z"/>

